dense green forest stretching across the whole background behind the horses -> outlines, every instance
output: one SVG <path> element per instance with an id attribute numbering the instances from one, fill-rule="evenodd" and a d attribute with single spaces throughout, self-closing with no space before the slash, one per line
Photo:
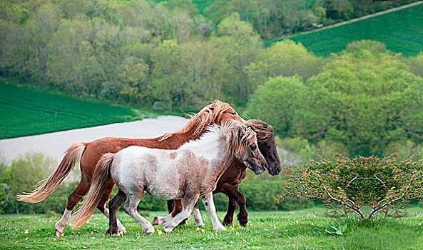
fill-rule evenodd
<path id="1" fill-rule="evenodd" d="M 176 0 L 1 1 L 0 75 L 158 111 L 223 99 L 307 157 L 422 154 L 423 54 L 405 58 L 377 41 L 328 58 L 290 40 L 263 48 L 263 38 L 320 23 L 307 15 L 329 24 L 409 1 L 279 2 L 216 0 L 199 10 Z"/>

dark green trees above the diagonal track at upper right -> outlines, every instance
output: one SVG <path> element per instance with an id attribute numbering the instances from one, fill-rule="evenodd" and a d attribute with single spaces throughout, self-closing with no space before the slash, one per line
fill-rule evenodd
<path id="1" fill-rule="evenodd" d="M 175 2 L 179 1 L 169 1 L 173 5 Z M 310 31 L 412 2 L 410 0 L 215 0 L 210 1 L 203 14 L 208 16 L 213 24 L 218 24 L 228 14 L 236 12 L 242 21 L 252 24 L 263 39 L 272 39 Z"/>

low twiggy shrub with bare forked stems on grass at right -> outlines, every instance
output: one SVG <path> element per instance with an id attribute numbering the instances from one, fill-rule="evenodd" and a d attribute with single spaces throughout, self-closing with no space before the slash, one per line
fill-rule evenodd
<path id="1" fill-rule="evenodd" d="M 362 220 L 378 213 L 402 216 L 409 201 L 423 197 L 423 161 L 397 161 L 397 155 L 379 159 L 337 154 L 336 162 L 320 159 L 298 169 L 285 166 L 284 195 L 322 200 L 331 216 L 349 216 Z M 279 200 L 278 200 L 279 201 Z M 369 207 L 368 212 L 363 207 Z"/>

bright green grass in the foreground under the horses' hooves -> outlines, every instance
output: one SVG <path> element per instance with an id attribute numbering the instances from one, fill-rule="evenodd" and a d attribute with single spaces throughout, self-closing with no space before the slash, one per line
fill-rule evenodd
<path id="1" fill-rule="evenodd" d="M 322 213 L 317 209 L 317 213 Z M 149 221 L 165 212 L 144 212 Z M 218 214 L 222 219 L 223 214 Z M 335 221 L 316 216 L 312 210 L 297 212 L 250 212 L 246 228 L 229 226 L 215 232 L 205 213 L 205 228 L 188 224 L 170 234 L 141 234 L 141 226 L 126 214 L 118 217 L 128 230 L 123 236 L 104 236 L 108 220 L 96 214 L 81 229 L 67 228 L 56 238 L 58 216 L 1 215 L 0 249 L 423 249 L 422 216 Z M 329 234 L 330 226 L 346 225 L 342 235 Z M 162 226 L 156 226 L 160 232 Z"/>

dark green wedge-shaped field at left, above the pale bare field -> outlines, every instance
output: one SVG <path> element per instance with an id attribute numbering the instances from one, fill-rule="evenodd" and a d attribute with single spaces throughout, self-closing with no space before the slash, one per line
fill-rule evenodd
<path id="1" fill-rule="evenodd" d="M 0 116 L 0 139 L 4 139 L 133 121 L 153 114 L 34 91 L 0 79 Z"/>

